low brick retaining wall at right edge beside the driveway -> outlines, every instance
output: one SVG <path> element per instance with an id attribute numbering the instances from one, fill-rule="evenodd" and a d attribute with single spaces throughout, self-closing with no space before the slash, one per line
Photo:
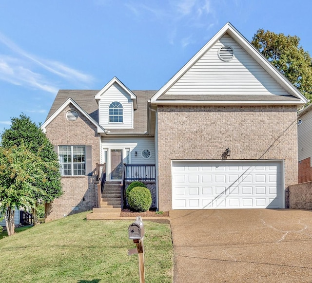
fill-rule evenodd
<path id="1" fill-rule="evenodd" d="M 312 182 L 289 186 L 289 208 L 312 209 Z"/>

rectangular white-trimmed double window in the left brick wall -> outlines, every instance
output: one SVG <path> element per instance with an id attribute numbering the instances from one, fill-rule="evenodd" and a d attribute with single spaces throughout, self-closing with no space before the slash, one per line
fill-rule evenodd
<path id="1" fill-rule="evenodd" d="M 85 175 L 86 147 L 59 146 L 59 163 L 62 176 Z"/>

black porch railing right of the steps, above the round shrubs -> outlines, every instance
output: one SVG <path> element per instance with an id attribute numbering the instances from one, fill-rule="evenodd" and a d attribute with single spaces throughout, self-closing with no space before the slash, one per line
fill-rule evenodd
<path id="1" fill-rule="evenodd" d="M 126 181 L 156 181 L 155 164 L 123 164 L 121 179 L 121 208 L 126 206 Z"/>

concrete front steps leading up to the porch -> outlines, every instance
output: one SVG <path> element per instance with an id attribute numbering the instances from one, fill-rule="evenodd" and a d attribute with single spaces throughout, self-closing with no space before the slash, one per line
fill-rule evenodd
<path id="1" fill-rule="evenodd" d="M 93 208 L 87 220 L 102 220 L 119 217 L 121 212 L 120 181 L 105 182 L 100 208 Z"/>

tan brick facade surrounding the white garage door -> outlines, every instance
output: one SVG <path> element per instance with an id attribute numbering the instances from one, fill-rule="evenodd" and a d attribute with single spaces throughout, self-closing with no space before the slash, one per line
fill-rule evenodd
<path id="1" fill-rule="evenodd" d="M 172 209 L 172 160 L 285 160 L 285 188 L 297 183 L 295 106 L 158 106 L 159 210 Z"/>

